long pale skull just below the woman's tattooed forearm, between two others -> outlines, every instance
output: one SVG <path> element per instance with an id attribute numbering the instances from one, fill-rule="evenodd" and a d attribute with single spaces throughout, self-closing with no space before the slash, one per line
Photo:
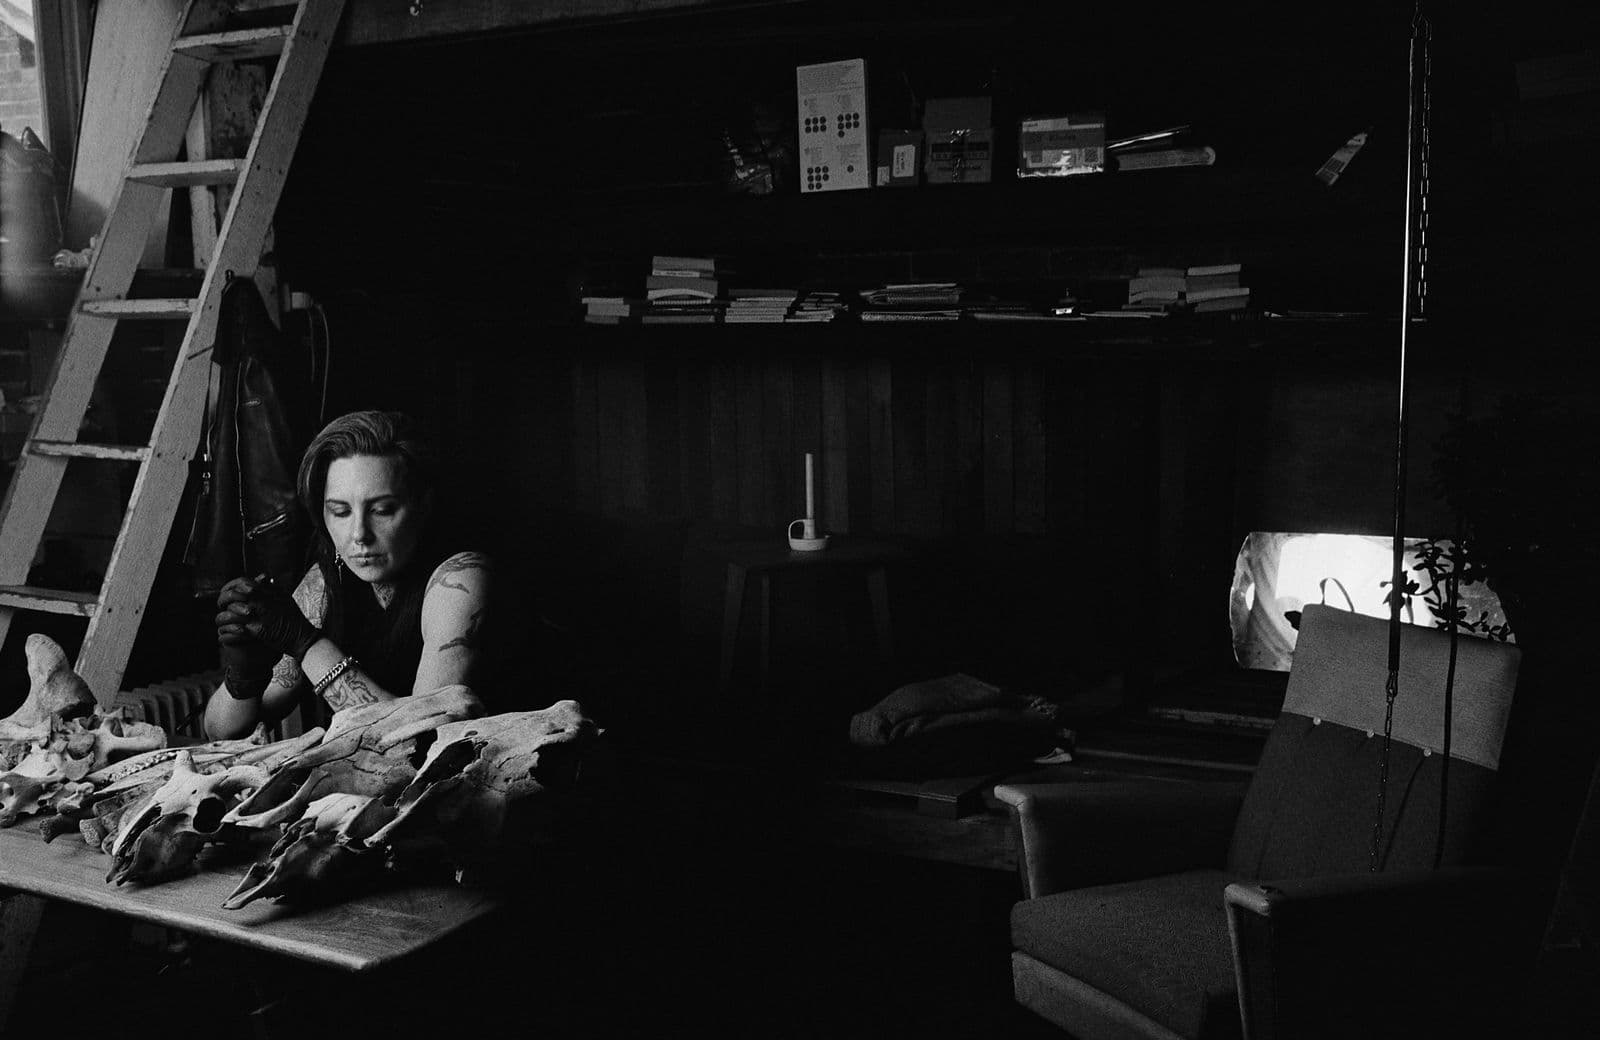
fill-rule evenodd
<path id="1" fill-rule="evenodd" d="M 416 776 L 411 758 L 419 736 L 482 714 L 483 704 L 461 685 L 347 707 L 333 717 L 322 744 L 285 762 L 227 814 L 227 822 L 256 829 L 286 824 L 328 794 L 394 795 Z"/>

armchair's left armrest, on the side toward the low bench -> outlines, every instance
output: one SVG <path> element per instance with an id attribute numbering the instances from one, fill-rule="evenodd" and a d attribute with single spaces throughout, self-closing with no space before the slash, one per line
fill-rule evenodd
<path id="1" fill-rule="evenodd" d="M 1131 882 L 1221 867 L 1245 784 L 1083 781 L 1000 784 L 1019 842 L 1022 891 Z"/>

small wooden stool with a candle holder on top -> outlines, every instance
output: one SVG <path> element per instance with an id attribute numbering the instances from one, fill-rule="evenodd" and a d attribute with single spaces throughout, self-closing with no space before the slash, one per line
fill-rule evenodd
<path id="1" fill-rule="evenodd" d="M 710 549 L 728 563 L 728 586 L 722 608 L 722 675 L 723 690 L 733 683 L 733 659 L 739 643 L 739 622 L 744 619 L 744 592 L 754 574 L 762 597 L 760 634 L 762 683 L 771 667 L 773 653 L 773 571 L 798 568 L 856 568 L 866 574 L 867 598 L 872 605 L 872 629 L 877 637 L 878 658 L 891 661 L 894 635 L 890 626 L 888 563 L 907 557 L 906 549 L 888 541 L 834 536 L 827 549 L 819 552 L 795 552 L 782 538 L 760 542 L 728 542 Z"/>

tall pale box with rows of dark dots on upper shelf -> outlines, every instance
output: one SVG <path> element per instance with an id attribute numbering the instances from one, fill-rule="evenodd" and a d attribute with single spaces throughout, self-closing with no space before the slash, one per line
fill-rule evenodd
<path id="1" fill-rule="evenodd" d="M 800 194 L 872 186 L 867 150 L 867 62 L 795 67 Z"/>

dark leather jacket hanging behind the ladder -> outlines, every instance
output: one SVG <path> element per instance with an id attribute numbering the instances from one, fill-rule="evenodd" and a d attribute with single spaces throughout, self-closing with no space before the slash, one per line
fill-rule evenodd
<path id="1" fill-rule="evenodd" d="M 184 562 L 195 597 L 266 573 L 293 589 L 306 570 L 309 522 L 294 477 L 309 438 L 309 386 L 296 346 L 267 315 L 256 283 L 222 288 L 216 344 L 221 386 L 198 459 L 198 496 Z"/>

